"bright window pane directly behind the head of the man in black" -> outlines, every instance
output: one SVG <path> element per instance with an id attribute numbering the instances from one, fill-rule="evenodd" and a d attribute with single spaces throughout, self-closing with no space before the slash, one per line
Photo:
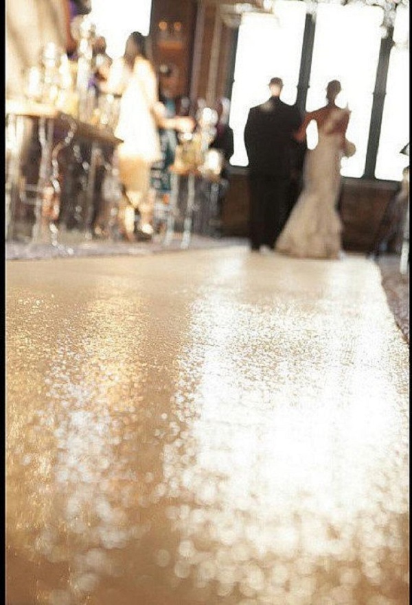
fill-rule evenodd
<path id="1" fill-rule="evenodd" d="M 274 76 L 282 78 L 282 100 L 290 104 L 296 101 L 305 14 L 304 2 L 277 0 L 275 15 L 255 13 L 242 18 L 231 97 L 233 165 L 247 165 L 244 126 L 249 109 L 268 99 L 269 80 Z"/>

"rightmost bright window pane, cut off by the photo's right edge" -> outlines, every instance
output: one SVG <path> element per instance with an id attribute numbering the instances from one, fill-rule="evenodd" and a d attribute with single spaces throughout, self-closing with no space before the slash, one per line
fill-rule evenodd
<path id="1" fill-rule="evenodd" d="M 400 6 L 396 13 L 375 170 L 376 178 L 387 180 L 401 180 L 409 165 L 409 157 L 400 154 L 409 142 L 409 7 Z"/>

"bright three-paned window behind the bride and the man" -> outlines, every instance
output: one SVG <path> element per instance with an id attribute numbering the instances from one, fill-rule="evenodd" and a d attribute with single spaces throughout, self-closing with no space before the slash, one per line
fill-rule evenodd
<path id="1" fill-rule="evenodd" d="M 296 101 L 306 3 L 276 0 L 274 6 L 274 16 L 248 13 L 240 25 L 230 116 L 235 139 L 233 165 L 247 165 L 244 126 L 249 109 L 268 98 L 268 80 L 279 75 L 285 84 L 282 100 Z M 343 176 L 361 177 L 365 172 L 382 19 L 382 9 L 377 6 L 317 5 L 306 110 L 325 104 L 330 80 L 341 81 L 338 103 L 351 110 L 347 138 L 356 145 L 356 154 L 343 158 Z M 394 42 L 375 173 L 376 178 L 388 180 L 400 180 L 402 169 L 409 164 L 409 158 L 400 154 L 409 141 L 409 7 L 404 5 L 397 9 Z M 308 147 L 316 143 L 312 123 Z"/>

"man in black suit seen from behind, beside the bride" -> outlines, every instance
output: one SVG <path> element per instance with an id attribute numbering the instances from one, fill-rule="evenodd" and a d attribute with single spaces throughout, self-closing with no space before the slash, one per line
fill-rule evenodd
<path id="1" fill-rule="evenodd" d="M 249 159 L 251 250 L 275 247 L 292 209 L 292 179 L 301 170 L 306 150 L 305 144 L 293 138 L 302 122 L 299 109 L 279 99 L 281 78 L 272 78 L 269 88 L 271 98 L 249 110 L 244 128 Z"/>

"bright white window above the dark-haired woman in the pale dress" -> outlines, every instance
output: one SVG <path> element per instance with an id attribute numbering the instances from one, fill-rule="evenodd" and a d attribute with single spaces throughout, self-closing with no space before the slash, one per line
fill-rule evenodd
<path id="1" fill-rule="evenodd" d="M 91 20 L 106 38 L 108 56 L 121 57 L 132 32 L 148 35 L 151 9 L 152 0 L 93 0 Z"/>

